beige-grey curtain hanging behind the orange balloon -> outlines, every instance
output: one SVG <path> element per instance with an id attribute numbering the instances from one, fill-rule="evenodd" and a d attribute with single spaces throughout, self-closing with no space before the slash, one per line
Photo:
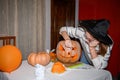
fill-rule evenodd
<path id="1" fill-rule="evenodd" d="M 15 35 L 23 59 L 45 51 L 45 0 L 0 0 L 0 35 Z"/>

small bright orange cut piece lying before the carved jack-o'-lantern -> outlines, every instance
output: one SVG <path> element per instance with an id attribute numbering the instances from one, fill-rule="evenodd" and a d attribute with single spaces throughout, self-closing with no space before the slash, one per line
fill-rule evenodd
<path id="1" fill-rule="evenodd" d="M 63 73 L 65 72 L 65 66 L 61 62 L 55 62 L 52 66 L 51 72 L 53 73 Z"/>

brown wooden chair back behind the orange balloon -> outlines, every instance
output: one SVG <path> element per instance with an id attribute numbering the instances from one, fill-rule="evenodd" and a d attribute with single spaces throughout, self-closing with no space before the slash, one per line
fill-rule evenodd
<path id="1" fill-rule="evenodd" d="M 16 46 L 16 36 L 0 36 L 2 45 L 14 45 Z"/>

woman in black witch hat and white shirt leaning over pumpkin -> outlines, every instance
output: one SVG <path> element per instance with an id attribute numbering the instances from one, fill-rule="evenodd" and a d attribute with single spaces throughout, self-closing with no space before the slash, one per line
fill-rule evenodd
<path id="1" fill-rule="evenodd" d="M 108 65 L 108 60 L 113 46 L 111 37 L 107 34 L 109 21 L 83 20 L 80 27 L 62 27 L 60 34 L 65 39 L 65 46 L 72 49 L 70 37 L 78 38 L 81 42 L 84 53 L 81 59 L 95 68 L 103 69 Z M 66 52 L 68 49 L 65 49 Z M 82 61 L 81 61 L 82 62 Z"/>

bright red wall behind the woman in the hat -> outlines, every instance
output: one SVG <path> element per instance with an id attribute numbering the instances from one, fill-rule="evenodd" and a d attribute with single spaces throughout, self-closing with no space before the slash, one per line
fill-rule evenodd
<path id="1" fill-rule="evenodd" d="M 116 76 L 120 72 L 120 1 L 119 0 L 79 0 L 79 20 L 110 20 L 109 34 L 114 41 L 113 50 L 107 69 Z"/>

